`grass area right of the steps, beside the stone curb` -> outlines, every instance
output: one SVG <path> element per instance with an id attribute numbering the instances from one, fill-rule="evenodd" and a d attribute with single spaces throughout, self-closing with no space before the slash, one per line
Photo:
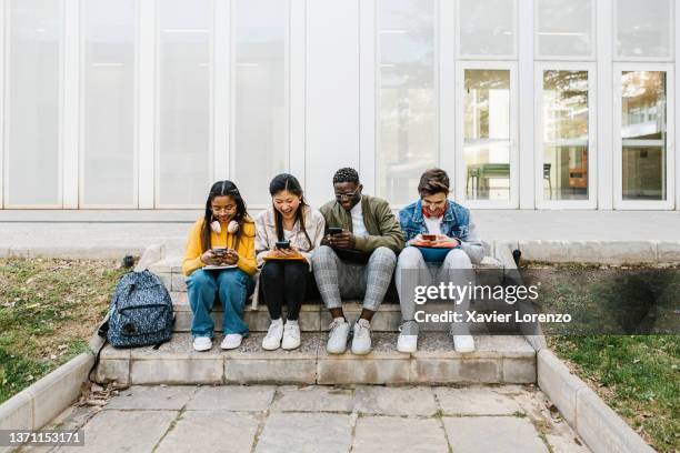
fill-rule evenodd
<path id="1" fill-rule="evenodd" d="M 680 451 L 680 269 L 526 263 L 548 344 L 659 452 Z M 646 333 L 646 334 L 642 334 Z"/>

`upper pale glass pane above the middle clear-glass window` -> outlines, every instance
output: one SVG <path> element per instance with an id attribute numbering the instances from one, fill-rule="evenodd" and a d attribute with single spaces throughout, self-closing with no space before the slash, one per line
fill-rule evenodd
<path id="1" fill-rule="evenodd" d="M 590 57 L 592 0 L 538 0 L 537 56 Z"/>

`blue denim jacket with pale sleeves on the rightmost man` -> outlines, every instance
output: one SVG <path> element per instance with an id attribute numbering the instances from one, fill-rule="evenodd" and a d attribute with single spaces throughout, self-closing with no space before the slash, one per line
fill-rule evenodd
<path id="1" fill-rule="evenodd" d="M 422 215 L 422 201 L 418 200 L 399 211 L 399 223 L 407 241 L 418 234 L 427 234 L 428 226 Z M 484 258 L 484 248 L 470 210 L 449 200 L 441 222 L 441 233 L 460 241 L 460 248 L 470 256 L 472 263 L 480 263 Z"/>

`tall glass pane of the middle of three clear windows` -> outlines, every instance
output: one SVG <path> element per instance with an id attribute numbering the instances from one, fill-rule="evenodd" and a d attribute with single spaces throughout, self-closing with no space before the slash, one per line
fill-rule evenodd
<path id="1" fill-rule="evenodd" d="M 543 71 L 544 200 L 588 200 L 588 71 Z"/>

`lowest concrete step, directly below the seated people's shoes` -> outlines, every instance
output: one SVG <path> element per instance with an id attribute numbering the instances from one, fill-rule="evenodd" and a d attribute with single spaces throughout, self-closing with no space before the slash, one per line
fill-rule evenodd
<path id="1" fill-rule="evenodd" d="M 396 333 L 373 333 L 363 356 L 326 352 L 324 333 L 303 333 L 294 351 L 264 351 L 264 333 L 253 333 L 233 351 L 196 352 L 191 335 L 174 334 L 159 350 L 117 350 L 107 345 L 99 382 L 131 384 L 501 384 L 536 382 L 536 352 L 522 336 L 476 335 L 477 351 L 459 353 L 448 334 L 421 335 L 419 351 L 396 350 Z"/>

